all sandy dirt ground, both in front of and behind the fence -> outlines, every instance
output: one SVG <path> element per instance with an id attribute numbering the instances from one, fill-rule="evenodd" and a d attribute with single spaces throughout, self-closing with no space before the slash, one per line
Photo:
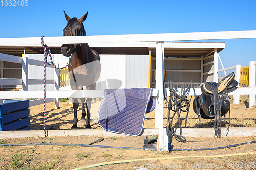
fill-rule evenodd
<path id="1" fill-rule="evenodd" d="M 231 96 L 232 98 L 232 96 Z M 248 108 L 248 97 L 241 96 L 240 104 L 231 104 L 231 126 L 232 127 L 256 127 L 254 115 L 256 108 Z M 97 113 L 102 99 L 92 101 L 92 128 L 100 129 L 97 122 Z M 192 99 L 193 100 L 193 99 Z M 73 120 L 73 108 L 69 102 L 60 102 L 60 108 L 54 109 L 54 103 L 47 106 L 46 129 L 70 129 Z M 31 130 L 42 130 L 41 105 L 30 107 Z M 81 117 L 81 106 L 78 111 L 78 119 Z M 154 128 L 155 111 L 146 114 L 144 128 Z M 185 113 L 181 117 L 185 117 Z M 184 126 L 184 119 L 182 119 Z M 223 117 L 223 127 L 228 124 L 228 114 Z M 213 127 L 214 120 L 202 120 L 199 123 L 197 115 L 190 108 L 187 120 L 187 127 Z M 166 109 L 164 110 L 164 124 L 167 124 Z M 85 123 L 78 122 L 79 129 L 84 129 Z M 155 138 L 156 136 L 149 136 Z M 97 136 L 54 136 L 17 139 L 2 139 L 1 144 L 26 144 L 26 143 L 65 143 L 65 144 L 89 144 L 99 139 Z M 130 137 L 108 137 L 94 145 L 133 147 L 142 148 L 145 136 Z M 74 169 L 88 165 L 104 162 L 137 160 L 129 163 L 110 163 L 90 169 L 255 169 L 256 143 L 249 143 L 256 140 L 256 136 L 250 137 L 186 137 L 186 143 L 180 143 L 173 139 L 171 147 L 173 149 L 197 149 L 223 147 L 217 150 L 192 150 L 192 151 L 171 151 L 157 152 L 155 150 L 123 149 L 123 148 L 100 148 L 81 147 L 78 145 L 43 145 L 43 146 L 15 146 L 0 147 L 0 166 L 2 169 Z M 237 147 L 227 148 L 225 146 L 245 143 Z M 156 145 L 156 144 L 154 144 Z M 248 154 L 248 152 L 255 152 Z M 228 157 L 220 156 L 224 154 Z M 180 158 L 179 156 L 184 156 Z M 187 157 L 185 157 L 187 156 Z M 202 156 L 195 158 L 195 156 Z M 217 156 L 217 157 L 212 157 Z M 172 157 L 172 158 L 170 158 Z M 154 160 L 159 158 L 159 160 Z M 147 159 L 147 160 L 140 160 Z M 161 159 L 161 160 L 160 160 Z M 108 163 L 106 163 L 108 164 Z"/>

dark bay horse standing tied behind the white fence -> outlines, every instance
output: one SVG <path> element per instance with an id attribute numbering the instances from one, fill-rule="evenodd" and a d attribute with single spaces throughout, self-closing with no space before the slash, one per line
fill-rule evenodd
<path id="1" fill-rule="evenodd" d="M 70 18 L 64 11 L 67 25 L 63 29 L 63 36 L 86 36 L 83 21 L 86 20 L 88 12 L 80 19 Z M 87 43 L 85 44 L 62 44 L 61 53 L 64 56 L 71 56 L 69 68 L 69 78 L 72 90 L 83 90 L 86 86 L 87 90 L 95 90 L 96 82 L 101 72 L 101 64 L 99 54 L 92 50 Z M 90 109 L 92 98 L 81 98 L 82 117 L 81 122 L 86 121 L 86 129 L 90 128 Z M 71 129 L 77 129 L 77 108 L 79 106 L 77 98 L 74 98 L 73 109 L 74 119 Z M 87 112 L 85 111 L 87 109 Z M 86 118 L 87 117 L 87 118 Z"/>

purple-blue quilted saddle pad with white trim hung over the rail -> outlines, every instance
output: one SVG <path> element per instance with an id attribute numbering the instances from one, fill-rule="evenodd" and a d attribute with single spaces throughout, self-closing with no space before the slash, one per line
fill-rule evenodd
<path id="1" fill-rule="evenodd" d="M 106 131 L 139 136 L 145 114 L 155 108 L 152 88 L 105 89 L 98 112 L 98 122 Z"/>

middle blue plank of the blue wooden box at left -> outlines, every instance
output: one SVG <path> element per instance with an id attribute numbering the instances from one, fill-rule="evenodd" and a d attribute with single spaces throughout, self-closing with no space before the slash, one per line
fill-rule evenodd
<path id="1" fill-rule="evenodd" d="M 19 120 L 25 117 L 29 117 L 29 109 L 19 110 L 16 112 L 11 112 L 9 114 L 2 115 L 1 124 L 7 124 L 9 122 L 13 122 L 15 120 Z"/>

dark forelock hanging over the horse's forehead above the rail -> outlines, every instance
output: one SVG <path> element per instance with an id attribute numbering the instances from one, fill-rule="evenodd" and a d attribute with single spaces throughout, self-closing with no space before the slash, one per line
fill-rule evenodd
<path id="1" fill-rule="evenodd" d="M 86 30 L 84 30 L 83 23 L 79 23 L 77 21 L 77 18 L 72 18 L 69 20 L 67 26 L 64 28 L 63 36 L 70 36 L 68 35 L 69 30 L 71 31 L 72 36 L 77 36 L 78 29 L 79 29 L 79 35 L 86 35 Z"/>

